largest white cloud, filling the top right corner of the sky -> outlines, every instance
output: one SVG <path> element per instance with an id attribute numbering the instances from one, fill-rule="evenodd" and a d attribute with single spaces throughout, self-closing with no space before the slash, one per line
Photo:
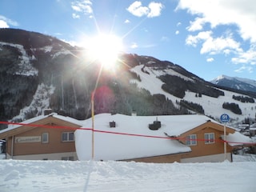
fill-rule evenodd
<path id="1" fill-rule="evenodd" d="M 244 40 L 256 42 L 256 3 L 254 0 L 179 0 L 176 10 L 188 10 L 197 15 L 188 30 L 202 30 L 206 23 L 212 28 L 236 25 Z"/>

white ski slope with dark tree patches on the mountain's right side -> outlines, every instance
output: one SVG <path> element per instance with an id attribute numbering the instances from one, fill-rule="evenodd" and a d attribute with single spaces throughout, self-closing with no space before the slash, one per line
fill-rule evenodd
<path id="1" fill-rule="evenodd" d="M 144 68 L 144 71 L 147 71 L 147 73 L 143 72 L 142 68 Z M 175 103 L 177 103 L 177 101 L 180 102 L 181 100 L 198 103 L 199 105 L 202 106 L 206 115 L 213 117 L 215 119 L 219 119 L 221 114 L 226 113 L 226 114 L 230 114 L 230 118 L 232 119 L 231 123 L 234 123 L 234 122 L 241 122 L 245 118 L 249 118 L 249 117 L 254 118 L 256 114 L 256 106 L 254 103 L 240 102 L 233 99 L 233 95 L 245 97 L 244 94 L 238 94 L 229 90 L 218 89 L 218 90 L 221 90 L 224 93 L 224 95 L 220 95 L 218 96 L 218 98 L 214 98 L 214 97 L 210 97 L 205 94 L 202 94 L 202 97 L 197 97 L 196 96 L 196 94 L 198 94 L 197 92 L 186 90 L 186 95 L 184 96 L 184 98 L 178 98 L 178 97 L 175 97 L 173 94 L 170 94 L 165 90 L 162 90 L 162 85 L 164 84 L 164 82 L 162 82 L 158 78 L 159 75 L 162 75 L 162 74 L 177 75 L 178 77 L 183 78 L 186 81 L 190 81 L 190 82 L 193 82 L 194 79 L 184 77 L 181 74 L 177 74 L 174 70 L 171 70 L 171 69 L 158 70 L 154 67 L 145 67 L 144 65 L 135 66 L 131 70 L 141 77 L 141 81 L 138 81 L 137 79 L 132 80 L 132 82 L 136 82 L 139 87 L 149 90 L 151 94 L 164 94 L 166 98 L 169 98 L 173 102 L 176 101 Z M 242 110 L 242 114 L 234 114 L 230 110 L 223 109 L 222 104 L 224 102 L 234 102 Z"/>

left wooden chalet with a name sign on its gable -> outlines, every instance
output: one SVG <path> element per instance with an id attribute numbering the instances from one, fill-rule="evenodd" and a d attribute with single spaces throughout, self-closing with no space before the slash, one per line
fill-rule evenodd
<path id="1" fill-rule="evenodd" d="M 58 114 L 40 115 L 0 130 L 6 141 L 6 158 L 26 160 L 77 160 L 74 130 L 81 127 L 74 118 Z"/>

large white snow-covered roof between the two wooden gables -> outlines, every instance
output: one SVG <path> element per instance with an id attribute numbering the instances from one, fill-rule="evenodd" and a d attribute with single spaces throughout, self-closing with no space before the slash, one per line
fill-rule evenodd
<path id="1" fill-rule="evenodd" d="M 166 137 L 166 134 L 168 134 L 170 136 L 178 136 L 196 126 L 202 125 L 209 119 L 204 115 L 198 114 L 162 116 L 95 115 L 94 159 L 121 160 L 189 152 L 190 147 L 177 140 L 135 135 Z M 161 128 L 150 130 L 148 128 L 149 124 L 156 120 L 161 122 Z M 109 122 L 113 121 L 116 126 L 110 128 Z M 84 127 L 92 127 L 91 118 L 84 122 Z M 108 132 L 114 132 L 115 134 Z M 91 131 L 76 130 L 75 145 L 79 160 L 90 159 L 92 155 Z"/>

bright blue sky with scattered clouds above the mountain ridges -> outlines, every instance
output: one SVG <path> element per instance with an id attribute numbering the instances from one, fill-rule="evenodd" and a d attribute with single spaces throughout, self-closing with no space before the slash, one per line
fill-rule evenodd
<path id="1" fill-rule="evenodd" d="M 83 46 L 95 34 L 124 51 L 174 62 L 207 81 L 256 80 L 255 0 L 1 0 L 0 28 Z"/>

